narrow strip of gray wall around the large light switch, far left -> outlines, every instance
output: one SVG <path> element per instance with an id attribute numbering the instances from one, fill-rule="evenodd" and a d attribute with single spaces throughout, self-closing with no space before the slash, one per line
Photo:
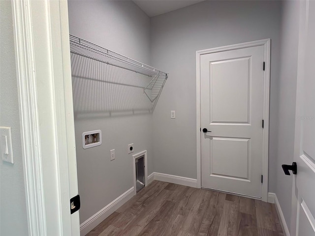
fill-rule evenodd
<path id="1" fill-rule="evenodd" d="M 11 127 L 14 165 L 0 160 L 0 235 L 28 235 L 11 1 L 0 0 L 0 126 Z"/>

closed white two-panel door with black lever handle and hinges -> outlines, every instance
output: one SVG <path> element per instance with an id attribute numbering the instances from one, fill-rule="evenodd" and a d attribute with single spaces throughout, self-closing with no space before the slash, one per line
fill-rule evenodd
<path id="1" fill-rule="evenodd" d="M 200 56 L 201 186 L 262 195 L 264 45 Z"/>

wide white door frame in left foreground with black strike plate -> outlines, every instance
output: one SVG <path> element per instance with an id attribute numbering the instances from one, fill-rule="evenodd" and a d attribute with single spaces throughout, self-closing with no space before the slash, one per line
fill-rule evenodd
<path id="1" fill-rule="evenodd" d="M 30 236 L 80 235 L 67 2 L 12 0 Z"/>

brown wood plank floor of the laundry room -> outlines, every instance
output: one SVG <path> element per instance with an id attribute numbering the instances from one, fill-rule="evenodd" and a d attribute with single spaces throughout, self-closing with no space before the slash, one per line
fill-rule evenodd
<path id="1" fill-rule="evenodd" d="M 283 236 L 273 204 L 153 181 L 88 236 Z"/>

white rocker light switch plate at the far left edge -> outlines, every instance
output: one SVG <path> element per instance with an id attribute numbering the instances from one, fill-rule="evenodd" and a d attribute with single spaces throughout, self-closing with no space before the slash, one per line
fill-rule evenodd
<path id="1" fill-rule="evenodd" d="M 11 127 L 0 127 L 1 135 L 1 159 L 14 164 Z"/>

